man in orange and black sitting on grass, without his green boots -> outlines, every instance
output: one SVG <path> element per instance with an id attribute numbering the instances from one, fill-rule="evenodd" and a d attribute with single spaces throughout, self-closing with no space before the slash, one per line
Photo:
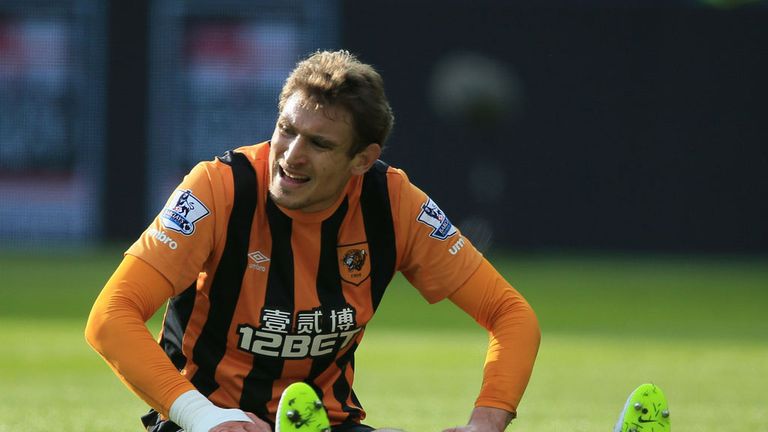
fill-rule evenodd
<path id="1" fill-rule="evenodd" d="M 268 432 L 294 382 L 317 392 L 334 432 L 374 430 L 352 389 L 354 353 L 397 271 L 490 334 L 469 422 L 450 430 L 504 430 L 536 358 L 536 317 L 379 160 L 393 124 L 379 74 L 346 51 L 318 52 L 278 108 L 271 141 L 192 169 L 93 306 L 87 340 L 152 407 L 147 430 Z M 158 344 L 145 321 L 166 302 Z"/>

